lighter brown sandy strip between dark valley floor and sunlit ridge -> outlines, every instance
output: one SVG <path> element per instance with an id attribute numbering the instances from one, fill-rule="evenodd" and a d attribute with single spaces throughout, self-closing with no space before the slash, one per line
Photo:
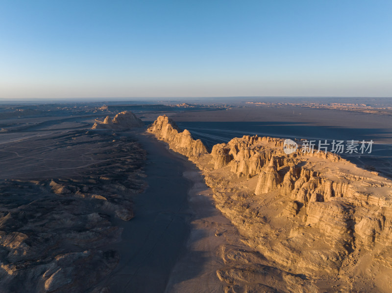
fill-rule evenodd
<path id="1" fill-rule="evenodd" d="M 193 214 L 191 235 L 165 292 L 223 292 L 223 283 L 216 273 L 224 266 L 218 252 L 222 245 L 241 248 L 241 237 L 215 207 L 212 190 L 204 183 L 200 172 L 189 170 L 184 172 L 184 177 L 194 184 L 188 193 Z"/>

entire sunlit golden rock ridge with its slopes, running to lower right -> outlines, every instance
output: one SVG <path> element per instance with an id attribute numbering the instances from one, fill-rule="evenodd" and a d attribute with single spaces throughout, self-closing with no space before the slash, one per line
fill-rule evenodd
<path id="1" fill-rule="evenodd" d="M 391 180 L 332 153 L 285 154 L 280 138 L 245 135 L 209 153 L 165 115 L 147 131 L 197 165 L 253 249 L 221 252 L 234 261 L 217 270 L 226 292 L 392 288 Z"/>

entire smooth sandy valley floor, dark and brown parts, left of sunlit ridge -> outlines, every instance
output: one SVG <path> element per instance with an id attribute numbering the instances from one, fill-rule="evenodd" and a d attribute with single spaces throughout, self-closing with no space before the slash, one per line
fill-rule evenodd
<path id="1" fill-rule="evenodd" d="M 241 246 L 236 229 L 195 165 L 152 135 L 137 138 L 147 150 L 148 188 L 134 198 L 135 218 L 118 224 L 122 241 L 112 248 L 120 264 L 99 285 L 116 293 L 222 292 L 216 254 L 222 244 Z"/>

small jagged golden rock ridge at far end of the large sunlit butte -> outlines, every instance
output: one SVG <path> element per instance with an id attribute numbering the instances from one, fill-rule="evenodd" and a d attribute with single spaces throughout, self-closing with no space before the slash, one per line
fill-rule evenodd
<path id="1" fill-rule="evenodd" d="M 208 154 L 207 148 L 200 139 L 193 139 L 191 133 L 186 129 L 181 132 L 174 121 L 166 115 L 159 116 L 147 131 L 167 142 L 172 150 L 189 158 Z"/>

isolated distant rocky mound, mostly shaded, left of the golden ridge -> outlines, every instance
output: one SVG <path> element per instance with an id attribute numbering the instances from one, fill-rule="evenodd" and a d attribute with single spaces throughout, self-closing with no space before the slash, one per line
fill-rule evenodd
<path id="1" fill-rule="evenodd" d="M 118 113 L 113 120 L 110 116 L 106 116 L 103 122 L 96 119 L 92 129 L 121 129 L 143 127 L 144 125 L 144 122 L 136 117 L 134 113 L 123 111 Z"/>

